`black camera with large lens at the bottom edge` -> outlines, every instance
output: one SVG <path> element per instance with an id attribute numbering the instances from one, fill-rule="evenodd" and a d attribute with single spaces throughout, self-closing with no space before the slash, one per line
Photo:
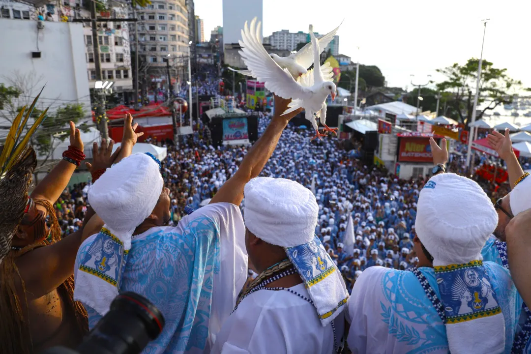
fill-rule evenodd
<path id="1" fill-rule="evenodd" d="M 54 347 L 41 354 L 137 354 L 162 328 L 164 317 L 155 305 L 137 293 L 122 292 L 78 348 Z"/>

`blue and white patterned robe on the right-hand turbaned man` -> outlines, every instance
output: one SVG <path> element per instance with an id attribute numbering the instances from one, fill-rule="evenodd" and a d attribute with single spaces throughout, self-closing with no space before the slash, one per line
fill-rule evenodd
<path id="1" fill-rule="evenodd" d="M 505 351 L 510 352 L 522 301 L 509 271 L 483 263 L 505 320 Z M 420 267 L 440 297 L 432 268 Z M 448 353 L 446 328 L 421 283 L 410 271 L 367 268 L 348 300 L 348 345 L 354 353 Z M 472 322 L 473 323 L 473 322 Z M 481 328 L 478 337 L 481 341 Z"/>

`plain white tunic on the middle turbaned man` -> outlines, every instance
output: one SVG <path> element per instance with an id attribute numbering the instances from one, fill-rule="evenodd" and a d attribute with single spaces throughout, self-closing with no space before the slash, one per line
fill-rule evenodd
<path id="1" fill-rule="evenodd" d="M 290 288 L 310 298 L 304 284 Z M 345 320 L 333 321 L 338 343 Z M 222 325 L 212 354 L 333 353 L 332 325 L 321 325 L 315 307 L 287 290 L 258 290 L 239 304 Z"/>

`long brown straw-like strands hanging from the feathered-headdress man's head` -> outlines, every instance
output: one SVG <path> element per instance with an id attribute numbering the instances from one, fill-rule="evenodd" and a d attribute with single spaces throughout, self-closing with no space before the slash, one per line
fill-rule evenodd
<path id="1" fill-rule="evenodd" d="M 44 247 L 56 243 L 61 239 L 61 228 L 57 222 L 55 210 L 48 201 L 35 199 L 35 203 L 46 208 L 52 226 L 50 227 L 50 240 L 43 240 L 39 243 L 28 245 L 20 251 L 12 251 L 0 264 L 0 318 L 3 324 L 0 326 L 0 343 L 2 343 L 3 354 L 31 354 L 33 344 L 29 330 L 29 320 L 24 316 L 27 313 L 28 299 L 24 280 L 20 277 L 18 268 L 15 265 L 16 258 L 38 247 Z M 15 276 L 19 277 L 22 287 L 23 298 L 19 298 L 15 287 Z M 80 339 L 88 332 L 87 311 L 79 303 L 74 301 L 74 277 L 68 277 L 58 288 L 57 292 L 63 301 L 68 315 L 74 315 Z M 23 301 L 23 303 L 22 303 Z M 23 307 L 22 304 L 25 306 Z M 24 311 L 23 308 L 26 310 Z"/>

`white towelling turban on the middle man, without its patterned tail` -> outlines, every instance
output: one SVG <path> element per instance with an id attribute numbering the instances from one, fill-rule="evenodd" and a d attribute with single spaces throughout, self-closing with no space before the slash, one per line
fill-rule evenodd
<path id="1" fill-rule="evenodd" d="M 284 178 L 257 177 L 245 185 L 245 226 L 277 246 L 295 247 L 314 237 L 319 206 L 310 189 Z"/>

